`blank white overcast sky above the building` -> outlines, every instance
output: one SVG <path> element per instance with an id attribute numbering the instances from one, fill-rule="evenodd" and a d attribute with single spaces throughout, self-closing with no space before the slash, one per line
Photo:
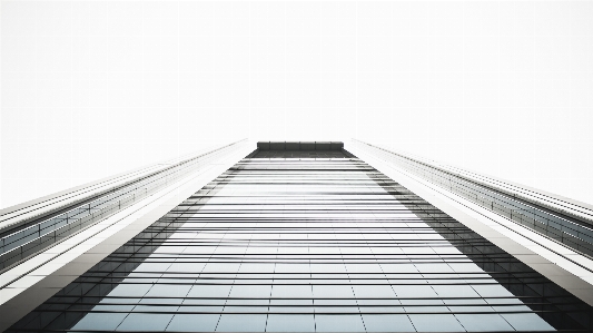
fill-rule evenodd
<path id="1" fill-rule="evenodd" d="M 2 1 L 6 207 L 230 139 L 357 137 L 593 203 L 592 1 Z"/>

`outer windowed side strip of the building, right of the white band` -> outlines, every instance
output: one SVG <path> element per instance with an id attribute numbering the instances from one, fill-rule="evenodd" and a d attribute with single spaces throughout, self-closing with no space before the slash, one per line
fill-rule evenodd
<path id="1" fill-rule="evenodd" d="M 432 184 L 528 227 L 587 256 L 593 256 L 593 209 L 550 195 L 525 190 L 502 180 L 487 182 L 467 172 L 354 140 L 359 149 L 393 163 Z M 533 194 L 531 194 L 533 193 Z M 545 198 L 545 199 L 544 199 Z"/>

